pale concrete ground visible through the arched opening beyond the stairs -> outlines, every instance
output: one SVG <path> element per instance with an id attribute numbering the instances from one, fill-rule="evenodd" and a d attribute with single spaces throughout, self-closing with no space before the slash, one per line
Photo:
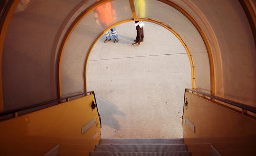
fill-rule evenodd
<path id="1" fill-rule="evenodd" d="M 153 23 L 145 22 L 144 42 L 137 47 L 133 22 L 116 28 L 119 42 L 104 43 L 102 36 L 88 63 L 88 91 L 96 93 L 102 138 L 182 138 L 184 88 L 191 88 L 184 47 Z"/>

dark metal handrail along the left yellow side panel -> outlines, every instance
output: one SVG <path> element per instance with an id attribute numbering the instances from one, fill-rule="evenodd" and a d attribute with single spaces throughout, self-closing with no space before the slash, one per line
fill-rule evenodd
<path id="1" fill-rule="evenodd" d="M 90 95 L 91 94 L 94 95 L 94 91 L 90 91 L 90 92 L 84 92 L 84 93 L 81 93 L 81 94 L 77 94 L 77 95 L 73 95 L 73 96 L 69 96 L 69 97 L 65 97 L 65 98 L 59 98 L 59 99 L 56 99 L 56 100 L 51 100 L 51 101 L 47 101 L 47 102 L 37 103 L 37 104 L 34 104 L 34 105 L 30 105 L 30 106 L 15 108 L 15 109 L 11 109 L 11 110 L 7 110 L 7 111 L 4 111 L 4 112 L 1 112 L 0 113 L 0 117 L 5 116 L 5 115 L 9 115 L 9 114 L 14 114 L 14 113 L 17 113 L 17 112 L 21 112 L 21 111 L 24 111 L 24 110 L 28 110 L 28 109 L 44 106 L 44 105 L 51 104 L 51 103 L 54 103 L 54 102 L 59 102 L 59 101 L 62 101 L 62 100 L 68 101 L 68 99 L 70 99 L 70 98 L 74 98 L 74 97 L 77 97 L 77 96 L 84 96 L 84 95 L 87 95 L 89 93 L 90 93 Z M 94 98 L 95 98 L 95 96 L 94 96 Z M 61 103 L 56 103 L 56 105 L 61 104 Z M 95 103 L 96 103 L 96 99 L 95 99 Z"/>

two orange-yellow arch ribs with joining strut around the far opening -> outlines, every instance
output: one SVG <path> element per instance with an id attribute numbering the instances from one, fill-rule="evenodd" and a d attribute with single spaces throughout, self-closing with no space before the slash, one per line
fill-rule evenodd
<path id="1" fill-rule="evenodd" d="M 58 87 L 58 90 L 59 90 L 59 97 L 61 97 L 61 73 L 60 73 L 60 70 L 61 70 L 61 58 L 62 58 L 62 55 L 63 55 L 63 50 L 64 50 L 64 47 L 66 46 L 66 43 L 67 43 L 67 40 L 68 38 L 70 37 L 71 33 L 73 32 L 73 30 L 75 29 L 75 27 L 78 25 L 78 23 L 82 20 L 83 17 L 85 17 L 86 15 L 88 15 L 92 10 L 94 10 L 95 8 L 97 8 L 98 6 L 104 4 L 104 3 L 107 3 L 107 2 L 111 2 L 113 0 L 102 0 L 102 1 L 99 1 L 98 3 L 94 4 L 93 6 L 89 7 L 87 10 L 85 10 L 78 18 L 76 21 L 74 21 L 73 25 L 71 26 L 71 28 L 69 29 L 69 31 L 67 32 L 67 35 L 62 43 L 62 46 L 61 46 L 61 51 L 60 51 L 60 54 L 59 54 L 59 60 L 58 60 L 58 81 L 59 81 L 59 87 Z M 196 20 L 191 17 L 185 10 L 183 10 L 181 7 L 179 7 L 178 5 L 176 5 L 175 3 L 173 2 L 170 2 L 170 1 L 167 1 L 167 0 L 157 0 L 159 2 L 162 2 L 162 3 L 165 3 L 166 5 L 169 5 L 175 9 L 177 9 L 179 12 L 181 12 L 185 17 L 187 17 L 189 19 L 189 21 L 191 21 L 191 23 L 193 23 L 193 25 L 196 27 L 196 29 L 198 30 L 199 34 L 201 35 L 204 43 L 205 43 L 205 46 L 206 46 L 206 50 L 207 50 L 207 53 L 208 53 L 208 58 L 209 58 L 209 64 L 210 64 L 210 92 L 212 95 L 215 95 L 215 80 L 214 80 L 214 63 L 213 63 L 213 59 L 212 59 L 212 53 L 211 53 L 211 49 L 210 49 L 210 46 L 209 46 L 209 43 L 208 43 L 208 40 L 203 32 L 203 30 L 200 28 L 200 26 L 197 24 Z M 153 20 L 153 19 L 147 19 L 147 18 L 138 18 L 136 13 L 135 13 L 135 8 L 134 8 L 134 3 L 133 3 L 133 0 L 129 0 L 130 2 L 130 5 L 131 5 L 131 10 L 132 10 L 132 13 L 133 13 L 133 18 L 134 19 L 126 19 L 126 20 L 123 20 L 123 21 L 119 21 L 118 23 L 106 28 L 105 30 L 103 30 L 103 32 L 105 32 L 106 30 L 110 29 L 111 27 L 114 27 L 116 25 L 120 25 L 122 23 L 125 23 L 127 21 L 133 21 L 133 20 L 145 20 L 145 21 L 151 21 L 152 23 L 156 23 L 164 28 L 166 28 L 167 30 L 169 30 L 170 32 L 172 32 L 180 41 L 181 43 L 183 44 L 187 54 L 188 54 L 188 57 L 189 57 L 189 61 L 190 61 L 190 66 L 191 66 L 191 81 L 192 81 L 192 88 L 195 88 L 196 86 L 196 80 L 195 80 L 195 65 L 194 65 L 194 61 L 193 61 L 193 58 L 192 58 L 192 55 L 189 51 L 189 49 L 187 48 L 184 40 L 174 31 L 172 30 L 170 27 L 168 27 L 167 25 L 164 25 L 162 24 L 160 21 L 157 21 L 157 20 Z M 94 44 L 97 42 L 97 40 L 100 38 L 100 36 L 103 35 L 103 32 L 101 32 L 101 34 L 93 41 L 92 43 L 92 46 L 90 47 L 88 53 L 87 53 L 87 57 L 86 57 L 86 62 L 84 63 L 84 91 L 87 90 L 87 76 L 86 76 L 86 73 L 87 73 L 87 62 L 88 62 L 88 59 L 89 59 L 89 56 L 90 56 L 90 53 L 91 53 L 91 50 L 93 49 L 94 47 Z"/>

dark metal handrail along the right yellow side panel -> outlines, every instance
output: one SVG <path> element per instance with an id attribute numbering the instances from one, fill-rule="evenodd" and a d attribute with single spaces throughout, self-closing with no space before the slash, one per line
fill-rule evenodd
<path id="1" fill-rule="evenodd" d="M 227 103 L 227 104 L 230 104 L 230 105 L 248 110 L 249 112 L 252 112 L 252 113 L 256 114 L 256 107 L 253 107 L 253 106 L 250 106 L 250 105 L 247 105 L 247 104 L 243 104 L 243 103 L 239 103 L 239 102 L 236 102 L 236 101 L 220 98 L 220 97 L 217 97 L 217 96 L 213 96 L 213 95 L 210 95 L 210 94 L 207 94 L 207 93 L 204 93 L 204 92 L 201 92 L 201 91 L 189 89 L 189 88 L 185 88 L 185 92 L 186 91 L 191 91 L 191 92 L 195 92 L 195 93 L 198 93 L 198 94 L 202 94 L 202 95 L 207 96 L 211 99 L 215 99 L 215 100 L 218 100 L 218 101 L 221 101 L 221 102 L 224 102 L 224 103 Z"/>

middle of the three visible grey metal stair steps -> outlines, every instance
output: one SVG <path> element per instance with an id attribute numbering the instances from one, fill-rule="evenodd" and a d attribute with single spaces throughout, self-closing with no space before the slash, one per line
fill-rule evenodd
<path id="1" fill-rule="evenodd" d="M 96 145 L 94 151 L 177 152 L 177 151 L 187 151 L 187 146 L 186 145 Z"/>

